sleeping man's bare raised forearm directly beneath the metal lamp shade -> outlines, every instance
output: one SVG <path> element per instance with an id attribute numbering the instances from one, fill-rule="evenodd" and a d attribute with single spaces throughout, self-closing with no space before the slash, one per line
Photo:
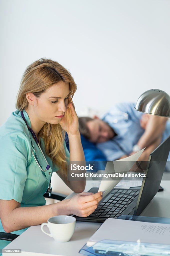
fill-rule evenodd
<path id="1" fill-rule="evenodd" d="M 143 115 L 140 124 L 141 127 L 145 129 L 145 132 L 140 137 L 137 145 L 140 148 L 144 148 L 154 143 L 157 138 L 162 136 L 167 120 L 167 118 L 162 116 L 154 116 L 149 114 Z"/>

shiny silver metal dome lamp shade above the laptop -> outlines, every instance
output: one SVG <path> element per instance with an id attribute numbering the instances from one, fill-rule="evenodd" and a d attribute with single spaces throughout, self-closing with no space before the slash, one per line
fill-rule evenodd
<path id="1" fill-rule="evenodd" d="M 135 109 L 151 115 L 170 117 L 170 97 L 158 89 L 145 91 L 137 100 Z"/>

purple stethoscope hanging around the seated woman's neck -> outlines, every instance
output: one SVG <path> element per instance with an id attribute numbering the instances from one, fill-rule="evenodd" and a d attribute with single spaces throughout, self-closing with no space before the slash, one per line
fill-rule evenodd
<path id="1" fill-rule="evenodd" d="M 37 139 L 35 133 L 34 133 L 33 130 L 31 129 L 31 127 L 28 126 L 27 121 L 26 121 L 26 119 L 25 119 L 25 117 L 24 117 L 23 111 L 21 111 L 21 116 L 22 116 L 23 120 L 25 121 L 28 130 L 31 132 L 31 134 L 32 134 L 32 136 L 33 136 L 35 142 L 37 143 L 37 145 L 38 145 L 38 147 L 39 147 L 39 149 L 40 149 L 40 151 L 41 151 L 41 153 L 42 153 L 42 155 L 43 155 L 43 157 L 44 157 L 44 159 L 45 159 L 45 162 L 47 163 L 47 166 L 46 166 L 45 170 L 43 170 L 43 169 L 41 168 L 41 166 L 39 165 L 37 159 L 35 158 L 35 156 L 34 156 L 34 154 L 33 154 L 32 149 L 31 149 L 32 155 L 33 155 L 33 157 L 34 157 L 36 163 L 38 164 L 38 166 L 39 166 L 40 169 L 42 170 L 42 172 L 46 172 L 47 170 L 50 169 L 50 165 L 48 164 L 48 162 L 47 162 L 47 160 L 46 160 L 46 158 L 45 158 L 45 156 L 44 156 L 44 153 L 42 152 L 42 149 L 41 149 L 41 147 L 40 147 L 40 145 L 39 145 L 39 142 L 38 142 L 38 139 Z M 31 144 L 32 144 L 32 142 L 31 142 Z M 51 180 L 50 180 L 50 184 L 49 184 L 49 186 L 48 186 L 48 189 L 47 189 L 46 193 L 48 193 L 49 196 L 51 196 L 51 192 L 52 192 L 52 186 L 51 186 Z"/>

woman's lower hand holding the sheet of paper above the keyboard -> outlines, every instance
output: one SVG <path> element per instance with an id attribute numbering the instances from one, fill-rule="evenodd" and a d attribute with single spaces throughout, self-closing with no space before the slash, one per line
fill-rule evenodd
<path id="1" fill-rule="evenodd" d="M 102 199 L 103 192 L 96 194 L 82 192 L 71 199 L 68 199 L 69 214 L 75 214 L 80 217 L 89 216 L 97 207 Z"/>

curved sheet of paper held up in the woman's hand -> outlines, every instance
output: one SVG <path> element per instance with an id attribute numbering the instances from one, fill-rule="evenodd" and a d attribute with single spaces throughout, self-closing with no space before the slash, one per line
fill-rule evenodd
<path id="1" fill-rule="evenodd" d="M 127 174 L 131 167 L 136 163 L 138 158 L 141 156 L 144 149 L 145 148 L 143 148 L 136 154 L 128 156 L 126 158 L 107 162 L 104 173 L 109 174 L 114 172 L 120 174 Z M 98 191 L 103 191 L 103 197 L 106 196 L 120 182 L 122 178 L 123 177 L 115 177 L 111 178 L 111 180 L 104 180 L 105 178 L 102 178 L 102 182 L 100 184 Z"/>

